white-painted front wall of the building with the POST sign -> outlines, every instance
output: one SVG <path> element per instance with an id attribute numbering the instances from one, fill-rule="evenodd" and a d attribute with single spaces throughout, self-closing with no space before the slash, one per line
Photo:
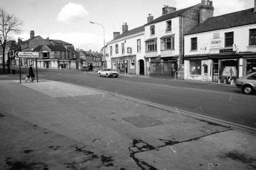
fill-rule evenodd
<path id="1" fill-rule="evenodd" d="M 233 75 L 236 75 L 237 78 L 246 75 L 246 65 L 248 59 L 250 61 L 255 59 L 256 61 L 256 55 L 254 53 L 256 52 L 256 46 L 249 46 L 250 29 L 256 29 L 256 24 L 248 24 L 240 27 L 232 27 L 228 29 L 219 29 L 215 31 L 185 35 L 185 80 L 220 82 L 221 73 L 224 73 L 224 71 L 221 71 L 221 62 L 228 60 L 230 60 L 230 62 L 236 61 L 238 63 L 236 71 L 233 71 L 234 73 L 231 71 L 231 74 L 233 73 Z M 233 46 L 225 48 L 225 33 L 229 32 L 233 32 Z M 191 50 L 191 38 L 194 37 L 197 37 L 197 50 Z M 229 51 L 224 52 L 224 50 Z M 251 55 L 248 56 L 248 54 Z M 193 73 L 191 73 L 191 63 L 193 61 L 201 61 L 201 74 L 193 75 Z M 218 71 L 216 71 L 218 72 L 218 79 L 217 77 L 214 78 L 213 62 L 217 62 L 216 65 L 218 65 Z M 208 66 L 208 71 L 204 71 L 206 67 L 203 67 L 203 65 Z"/>

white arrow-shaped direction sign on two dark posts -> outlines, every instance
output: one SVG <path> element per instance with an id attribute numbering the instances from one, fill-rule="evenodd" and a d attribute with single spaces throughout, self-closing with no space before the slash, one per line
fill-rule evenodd
<path id="1" fill-rule="evenodd" d="M 36 68 L 36 82 L 38 82 L 38 57 L 39 52 L 15 52 L 16 58 L 19 61 L 20 67 L 20 58 L 35 58 L 35 68 Z M 21 83 L 21 75 L 20 75 L 20 83 Z"/>

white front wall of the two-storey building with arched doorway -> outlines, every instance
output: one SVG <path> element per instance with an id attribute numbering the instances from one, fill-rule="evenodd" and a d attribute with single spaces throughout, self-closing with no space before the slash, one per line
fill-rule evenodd
<path id="1" fill-rule="evenodd" d="M 141 39 L 141 50 L 137 51 L 137 39 Z M 109 69 L 117 69 L 117 63 L 113 63 L 117 58 L 121 58 L 121 60 L 126 60 L 128 62 L 129 71 L 128 73 L 133 73 L 139 75 L 139 61 L 143 60 L 144 63 L 144 73 L 145 73 L 145 35 L 144 31 L 139 33 L 134 33 L 132 35 L 128 35 L 126 37 L 122 37 L 120 39 L 115 39 L 107 43 L 107 51 L 108 57 L 107 60 L 107 68 Z M 115 52 L 115 46 L 118 45 L 118 53 Z M 122 44 L 124 44 L 124 54 L 122 54 Z M 112 52 L 111 52 L 112 47 Z M 130 56 L 134 56 L 134 68 L 130 66 L 133 61 L 130 61 Z"/>

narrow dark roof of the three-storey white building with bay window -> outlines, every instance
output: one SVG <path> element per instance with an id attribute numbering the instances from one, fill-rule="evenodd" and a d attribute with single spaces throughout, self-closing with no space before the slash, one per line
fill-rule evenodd
<path id="1" fill-rule="evenodd" d="M 199 3 L 199 4 L 201 4 L 201 3 Z M 199 4 L 197 4 L 197 5 L 199 5 Z M 169 19 L 175 18 L 177 16 L 182 16 L 182 14 L 184 14 L 184 12 L 187 12 L 188 10 L 190 10 L 191 8 L 193 8 L 193 7 L 197 6 L 197 5 L 193 5 L 191 7 L 186 7 L 184 9 L 182 9 L 182 10 L 177 10 L 175 12 L 171 12 L 169 14 L 162 15 L 162 16 L 160 16 L 160 17 L 158 17 L 158 18 L 148 22 L 147 24 L 145 24 L 145 26 L 150 25 L 150 24 L 154 24 L 156 22 L 161 22 L 163 20 L 169 20 Z"/>

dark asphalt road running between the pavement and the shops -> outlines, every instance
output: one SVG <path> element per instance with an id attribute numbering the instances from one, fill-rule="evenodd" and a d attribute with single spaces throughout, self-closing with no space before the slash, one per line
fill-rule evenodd
<path id="1" fill-rule="evenodd" d="M 236 86 L 124 75 L 118 78 L 104 78 L 93 72 L 65 69 L 39 69 L 38 76 L 39 79 L 98 88 L 203 116 L 256 127 L 256 95 L 244 95 Z"/>

